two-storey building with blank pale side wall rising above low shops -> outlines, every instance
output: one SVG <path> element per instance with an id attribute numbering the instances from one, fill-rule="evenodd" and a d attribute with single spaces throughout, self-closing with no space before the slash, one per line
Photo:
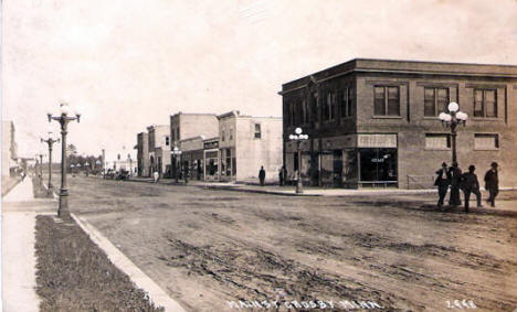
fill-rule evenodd
<path id="1" fill-rule="evenodd" d="M 180 111 L 170 116 L 171 149 L 177 147 L 178 149 L 182 150 L 183 148 L 180 143 L 181 140 L 191 139 L 200 136 L 204 138 L 213 138 L 218 136 L 218 131 L 219 121 L 214 114 L 186 114 Z M 187 148 L 191 149 L 190 147 Z M 191 154 L 189 154 L 189 157 L 190 155 Z M 175 157 L 171 154 L 169 159 L 170 163 L 172 163 L 171 175 L 176 176 L 177 172 L 178 174 L 180 174 L 179 169 L 180 160 L 182 159 L 182 157 Z M 181 163 L 182 170 L 184 170 L 184 162 Z M 192 163 L 189 163 L 189 166 L 190 165 L 192 165 Z M 202 164 L 199 165 L 201 165 L 202 168 Z M 196 164 L 196 166 L 198 166 L 198 164 Z"/>

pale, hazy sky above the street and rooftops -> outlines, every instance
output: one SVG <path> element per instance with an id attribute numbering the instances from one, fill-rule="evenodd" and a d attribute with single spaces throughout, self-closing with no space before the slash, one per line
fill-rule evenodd
<path id="1" fill-rule="evenodd" d="M 517 65 L 517 1 L 3 0 L 1 52 L 20 155 L 67 99 L 80 153 L 135 157 L 172 114 L 281 116 L 282 84 L 356 57 Z"/>

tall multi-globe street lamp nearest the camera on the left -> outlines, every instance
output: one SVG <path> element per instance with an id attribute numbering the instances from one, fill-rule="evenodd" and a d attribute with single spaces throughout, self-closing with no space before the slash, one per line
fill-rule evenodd
<path id="1" fill-rule="evenodd" d="M 66 133 L 70 121 L 81 120 L 81 114 L 75 111 L 75 116 L 68 116 L 70 107 L 63 101 L 60 105 L 60 115 L 52 116 L 52 112 L 48 112 L 49 122 L 55 120 L 61 125 L 61 190 L 60 190 L 60 207 L 57 208 L 57 216 L 68 217 L 68 185 L 66 184 Z"/>

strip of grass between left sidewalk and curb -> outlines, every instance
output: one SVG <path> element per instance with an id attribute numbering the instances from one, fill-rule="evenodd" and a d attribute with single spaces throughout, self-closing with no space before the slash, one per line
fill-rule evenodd
<path id="1" fill-rule="evenodd" d="M 72 219 L 36 217 L 40 311 L 163 311 Z"/>

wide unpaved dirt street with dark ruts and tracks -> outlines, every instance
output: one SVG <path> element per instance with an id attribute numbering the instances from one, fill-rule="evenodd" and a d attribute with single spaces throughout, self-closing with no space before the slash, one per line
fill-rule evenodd
<path id="1" fill-rule="evenodd" d="M 71 211 L 187 310 L 229 310 L 228 301 L 282 293 L 401 311 L 451 311 L 454 300 L 472 300 L 476 311 L 517 308 L 516 213 L 442 213 L 431 195 L 289 197 L 96 177 L 70 183 Z"/>

